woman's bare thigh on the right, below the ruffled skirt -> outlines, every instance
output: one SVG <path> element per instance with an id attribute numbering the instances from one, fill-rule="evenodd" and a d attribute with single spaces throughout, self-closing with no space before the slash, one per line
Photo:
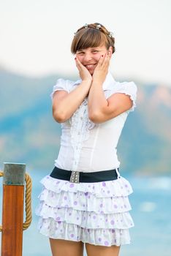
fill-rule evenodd
<path id="1" fill-rule="evenodd" d="M 99 246 L 86 244 L 87 256 L 118 256 L 120 246 Z"/>

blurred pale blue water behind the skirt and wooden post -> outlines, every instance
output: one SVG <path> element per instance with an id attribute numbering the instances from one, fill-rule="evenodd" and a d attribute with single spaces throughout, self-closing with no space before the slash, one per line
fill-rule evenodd
<path id="1" fill-rule="evenodd" d="M 38 203 L 37 195 L 42 189 L 39 180 L 46 173 L 37 171 L 29 174 L 33 181 L 33 222 L 23 233 L 23 256 L 50 256 L 48 239 L 37 232 L 37 217 L 34 214 Z M 120 256 L 170 256 L 171 178 L 126 178 L 134 189 L 129 199 L 135 227 L 130 230 L 132 244 L 122 246 Z"/>

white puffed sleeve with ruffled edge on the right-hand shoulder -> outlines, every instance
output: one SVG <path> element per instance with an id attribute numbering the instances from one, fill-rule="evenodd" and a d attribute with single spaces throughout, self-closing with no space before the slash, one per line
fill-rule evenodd
<path id="1" fill-rule="evenodd" d="M 137 99 L 137 86 L 134 82 L 123 82 L 121 83 L 121 86 L 119 86 L 118 93 L 123 93 L 130 96 L 130 99 L 132 99 L 132 108 L 127 110 L 126 112 L 129 113 L 131 111 L 134 111 L 134 108 L 136 107 L 136 99 Z"/>

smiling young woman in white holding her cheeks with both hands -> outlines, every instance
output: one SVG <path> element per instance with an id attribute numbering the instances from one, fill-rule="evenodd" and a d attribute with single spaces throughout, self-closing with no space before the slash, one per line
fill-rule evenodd
<path id="1" fill-rule="evenodd" d="M 42 179 L 39 232 L 53 256 L 118 256 L 129 244 L 129 181 L 120 176 L 116 147 L 137 87 L 109 72 L 115 39 L 99 23 L 75 33 L 71 50 L 80 79 L 59 79 L 51 94 L 53 118 L 61 123 L 55 167 Z"/>

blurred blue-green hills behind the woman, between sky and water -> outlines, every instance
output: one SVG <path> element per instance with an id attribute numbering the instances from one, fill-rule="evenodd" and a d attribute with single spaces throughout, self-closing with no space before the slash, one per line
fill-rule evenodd
<path id="1" fill-rule="evenodd" d="M 60 125 L 51 115 L 50 92 L 60 77 L 27 78 L 0 70 L 1 167 L 3 162 L 26 162 L 28 169 L 52 169 Z M 171 88 L 140 83 L 137 87 L 137 108 L 129 114 L 118 143 L 121 170 L 171 173 Z"/>

